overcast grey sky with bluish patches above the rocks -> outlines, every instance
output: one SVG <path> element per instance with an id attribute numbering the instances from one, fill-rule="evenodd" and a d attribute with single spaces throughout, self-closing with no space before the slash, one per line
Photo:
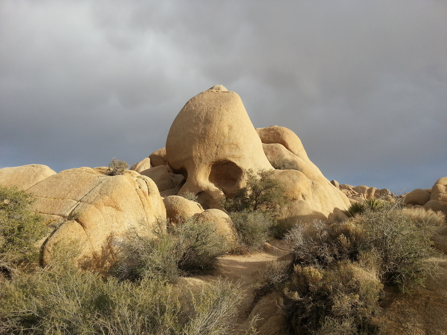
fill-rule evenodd
<path id="1" fill-rule="evenodd" d="M 0 168 L 132 165 L 216 84 L 329 180 L 447 176 L 447 1 L 2 0 Z"/>

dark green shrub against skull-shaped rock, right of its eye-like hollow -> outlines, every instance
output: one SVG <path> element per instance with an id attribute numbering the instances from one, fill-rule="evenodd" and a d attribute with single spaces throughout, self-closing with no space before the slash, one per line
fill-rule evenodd
<path id="1" fill-rule="evenodd" d="M 222 205 L 229 212 L 244 210 L 261 211 L 273 216 L 286 201 L 284 185 L 274 178 L 274 170 L 261 170 L 255 175 L 252 170 L 245 172 L 247 183 L 240 188 L 232 199 L 226 199 Z"/>

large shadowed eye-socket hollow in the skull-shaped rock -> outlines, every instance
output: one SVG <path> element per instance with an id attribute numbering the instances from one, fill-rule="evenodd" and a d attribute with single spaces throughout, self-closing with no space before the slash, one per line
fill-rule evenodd
<path id="1" fill-rule="evenodd" d="M 234 197 L 243 171 L 236 163 L 223 161 L 213 163 L 208 180 L 222 189 L 227 197 Z"/>

